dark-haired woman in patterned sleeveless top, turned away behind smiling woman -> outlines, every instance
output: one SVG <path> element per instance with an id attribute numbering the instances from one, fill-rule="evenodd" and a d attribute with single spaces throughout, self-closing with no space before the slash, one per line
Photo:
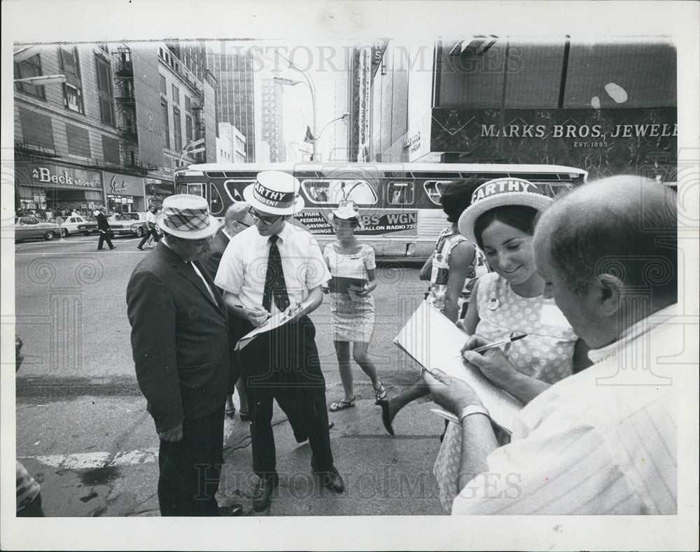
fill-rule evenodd
<path id="1" fill-rule="evenodd" d="M 430 280 L 426 301 L 457 325 L 465 315 L 476 278 L 486 274 L 489 266 L 484 253 L 459 233 L 457 221 L 472 199 L 477 184 L 459 179 L 440 189 L 440 205 L 447 215 L 449 227 L 440 232 L 433 255 L 421 269 L 421 280 Z M 409 402 L 428 395 L 430 390 L 419 380 L 390 399 L 379 399 L 381 421 L 393 435 L 394 416 Z"/>

